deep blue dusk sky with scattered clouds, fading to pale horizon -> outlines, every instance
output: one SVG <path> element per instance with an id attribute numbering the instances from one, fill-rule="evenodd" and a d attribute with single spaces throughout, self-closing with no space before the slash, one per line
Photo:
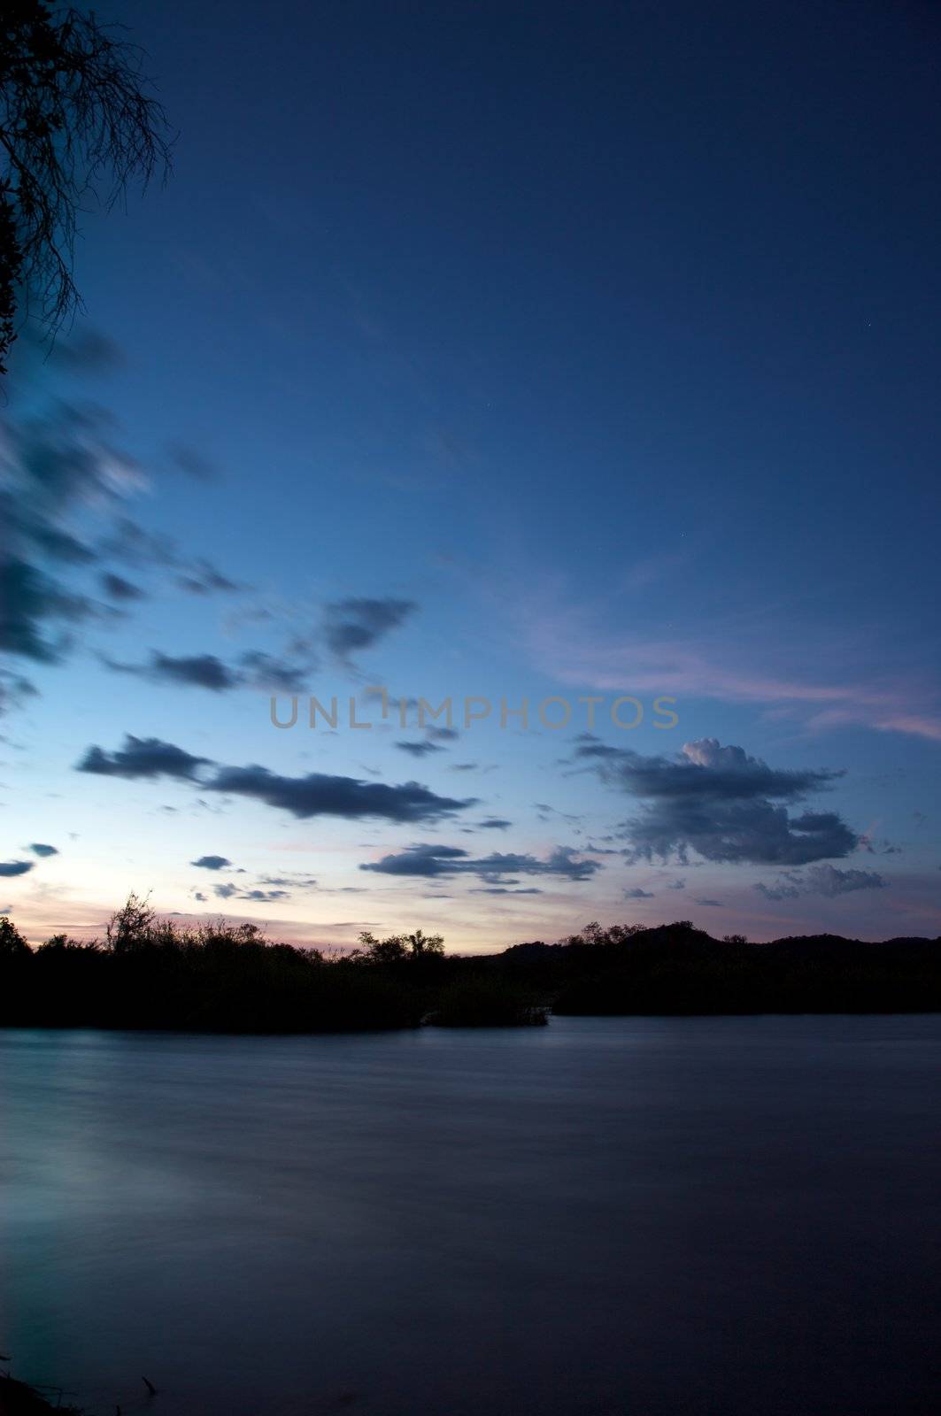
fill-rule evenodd
<path id="1" fill-rule="evenodd" d="M 937 6 L 98 13 L 179 137 L 0 409 L 0 912 L 938 935 Z"/>

